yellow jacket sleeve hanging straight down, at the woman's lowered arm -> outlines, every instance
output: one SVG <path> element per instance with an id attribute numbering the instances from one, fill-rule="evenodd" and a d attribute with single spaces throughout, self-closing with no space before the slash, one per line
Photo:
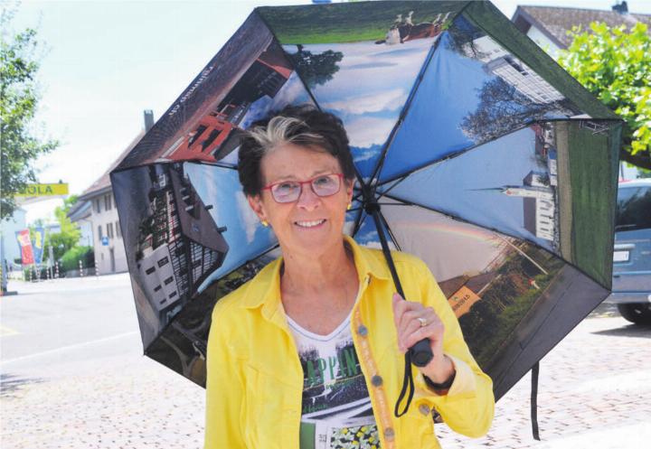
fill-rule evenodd
<path id="1" fill-rule="evenodd" d="M 220 302 L 221 303 L 221 302 Z M 228 307 L 218 303 L 212 312 L 206 355 L 206 423 L 204 449 L 244 448 L 241 409 L 244 382 L 241 363 L 229 345 Z"/>

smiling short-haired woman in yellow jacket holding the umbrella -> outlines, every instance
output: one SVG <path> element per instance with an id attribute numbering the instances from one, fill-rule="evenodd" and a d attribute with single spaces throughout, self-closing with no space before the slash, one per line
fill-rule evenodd
<path id="1" fill-rule="evenodd" d="M 240 148 L 250 207 L 282 257 L 220 300 L 212 313 L 206 449 L 438 448 L 432 413 L 463 435 L 485 435 L 492 381 L 476 364 L 429 268 L 344 236 L 354 165 L 341 121 L 288 107 L 259 122 Z M 407 414 L 393 405 L 404 352 L 429 338 L 433 359 L 413 367 Z"/>

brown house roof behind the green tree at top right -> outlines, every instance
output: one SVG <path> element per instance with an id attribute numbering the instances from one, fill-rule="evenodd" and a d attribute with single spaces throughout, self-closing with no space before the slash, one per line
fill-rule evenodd
<path id="1" fill-rule="evenodd" d="M 570 45 L 571 39 L 567 32 L 572 26 L 580 25 L 585 29 L 591 22 L 603 22 L 610 27 L 625 24 L 627 28 L 642 22 L 650 25 L 651 31 L 651 14 L 619 14 L 616 11 L 599 9 L 519 5 L 511 20 L 523 33 L 527 33 L 531 26 L 535 26 L 561 48 Z"/>

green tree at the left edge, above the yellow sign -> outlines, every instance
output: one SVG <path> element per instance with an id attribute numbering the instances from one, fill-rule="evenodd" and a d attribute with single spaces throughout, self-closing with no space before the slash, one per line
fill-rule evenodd
<path id="1" fill-rule="evenodd" d="M 14 195 L 35 182 L 33 161 L 55 149 L 56 140 L 33 136 L 33 118 L 39 101 L 36 51 L 40 42 L 28 28 L 11 33 L 14 11 L 0 13 L 0 220 L 14 213 Z"/>

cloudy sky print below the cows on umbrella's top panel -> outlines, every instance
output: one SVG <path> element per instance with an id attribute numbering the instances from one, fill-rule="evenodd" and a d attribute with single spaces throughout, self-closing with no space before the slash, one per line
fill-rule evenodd
<path id="1" fill-rule="evenodd" d="M 319 106 L 343 120 L 363 177 L 373 173 L 435 39 L 283 46 L 295 60 L 327 57 L 330 72 L 306 82 Z"/>

